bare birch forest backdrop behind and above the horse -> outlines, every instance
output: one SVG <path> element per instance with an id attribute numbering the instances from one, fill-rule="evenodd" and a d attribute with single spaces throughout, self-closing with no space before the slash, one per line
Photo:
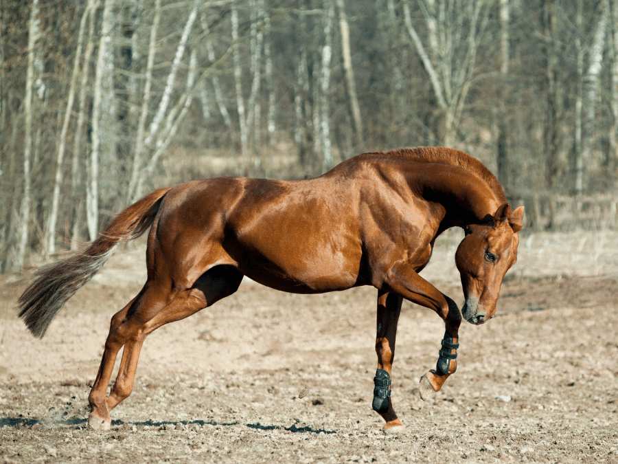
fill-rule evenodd
<path id="1" fill-rule="evenodd" d="M 617 227 L 618 0 L 0 0 L 0 67 L 0 272 L 153 188 L 402 146 Z"/>

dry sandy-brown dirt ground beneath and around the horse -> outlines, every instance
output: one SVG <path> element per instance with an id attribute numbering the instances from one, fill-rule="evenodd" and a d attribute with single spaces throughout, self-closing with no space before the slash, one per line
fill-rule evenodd
<path id="1" fill-rule="evenodd" d="M 423 274 L 461 305 L 459 239 L 439 239 Z M 43 340 L 16 318 L 23 283 L 0 276 L 0 464 L 618 463 L 616 232 L 524 235 L 499 317 L 464 322 L 457 373 L 430 401 L 418 380 L 444 326 L 404 302 L 400 434 L 371 410 L 377 291 L 251 282 L 150 335 L 111 430 L 87 430 L 109 319 L 144 282 L 143 256 L 143 243 L 117 251 Z"/>

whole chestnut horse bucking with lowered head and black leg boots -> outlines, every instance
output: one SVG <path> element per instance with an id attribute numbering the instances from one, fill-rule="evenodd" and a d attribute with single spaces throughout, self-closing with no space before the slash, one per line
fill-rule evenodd
<path id="1" fill-rule="evenodd" d="M 111 319 L 89 395 L 89 426 L 107 429 L 109 412 L 131 393 L 146 336 L 233 294 L 243 276 L 297 294 L 373 285 L 378 369 L 372 407 L 385 430 L 396 431 L 402 423 L 393 410 L 390 376 L 402 298 L 444 320 L 436 368 L 420 380 L 426 397 L 455 372 L 461 317 L 481 324 L 494 316 L 503 277 L 516 261 L 522 219 L 523 207 L 510 208 L 489 170 L 450 148 L 365 153 L 299 181 L 192 181 L 152 192 L 119 213 L 87 250 L 38 269 L 19 298 L 19 316 L 42 338 L 118 243 L 150 228 L 148 279 Z M 461 311 L 419 275 L 437 236 L 453 226 L 466 232 L 455 255 L 466 297 Z"/>

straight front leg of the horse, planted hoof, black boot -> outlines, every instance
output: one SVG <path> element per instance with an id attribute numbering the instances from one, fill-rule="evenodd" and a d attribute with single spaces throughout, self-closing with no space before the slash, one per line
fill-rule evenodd
<path id="1" fill-rule="evenodd" d="M 378 292 L 378 320 L 376 353 L 378 370 L 374 377 L 374 400 L 371 407 L 386 421 L 382 430 L 395 432 L 404 427 L 391 400 L 391 368 L 395 357 L 397 323 L 401 312 L 402 298 L 387 291 Z"/>

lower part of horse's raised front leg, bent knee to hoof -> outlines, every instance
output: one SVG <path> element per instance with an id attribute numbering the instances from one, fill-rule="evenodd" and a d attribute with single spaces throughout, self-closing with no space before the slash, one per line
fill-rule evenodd
<path id="1" fill-rule="evenodd" d="M 438 360 L 435 369 L 426 372 L 419 382 L 419 393 L 421 399 L 433 397 L 446 382 L 449 375 L 457 370 L 457 349 L 459 348 L 459 324 L 461 324 L 461 313 L 453 300 L 444 295 L 448 302 L 448 312 L 444 317 L 444 337 L 442 338 L 442 349 L 438 352 Z"/>

